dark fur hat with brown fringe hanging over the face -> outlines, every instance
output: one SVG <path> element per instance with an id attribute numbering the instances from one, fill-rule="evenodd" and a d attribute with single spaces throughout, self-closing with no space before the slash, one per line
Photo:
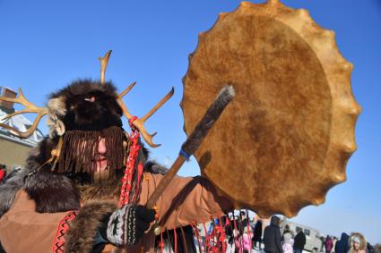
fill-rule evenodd
<path id="1" fill-rule="evenodd" d="M 122 108 L 111 82 L 75 80 L 49 96 L 50 139 L 62 139 L 57 148 L 59 173 L 93 173 L 93 157 L 100 138 L 106 141 L 109 172 L 124 166 L 126 141 Z M 80 154 L 80 155 L 79 155 Z M 109 173 L 110 176 L 113 173 Z"/>

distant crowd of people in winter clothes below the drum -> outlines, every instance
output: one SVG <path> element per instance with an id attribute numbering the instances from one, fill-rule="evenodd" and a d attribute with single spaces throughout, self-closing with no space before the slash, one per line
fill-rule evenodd
<path id="1" fill-rule="evenodd" d="M 233 249 L 235 253 L 248 253 L 252 252 L 252 249 L 264 250 L 266 253 L 302 253 L 306 250 L 307 238 L 302 228 L 297 226 L 295 232 L 288 224 L 281 228 L 281 219 L 276 215 L 271 217 L 270 224 L 264 228 L 264 231 L 263 227 L 264 223 L 261 220 L 255 222 L 253 219 L 250 223 L 247 212 L 244 211 L 237 216 L 217 219 L 206 232 L 206 245 L 209 245 L 209 248 L 204 251 L 226 252 L 228 244 L 229 249 Z M 381 244 L 372 246 L 359 232 L 352 232 L 350 235 L 342 232 L 340 239 L 330 235 L 322 236 L 320 240 L 320 249 L 317 246 L 312 249 L 313 251 L 381 253 Z M 218 247 L 215 247 L 216 245 Z"/>

